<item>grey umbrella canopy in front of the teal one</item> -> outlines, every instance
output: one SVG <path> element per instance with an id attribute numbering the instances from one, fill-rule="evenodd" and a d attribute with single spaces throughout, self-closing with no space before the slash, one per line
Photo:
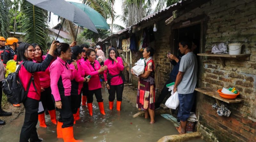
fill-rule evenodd
<path id="1" fill-rule="evenodd" d="M 65 0 L 27 0 L 31 4 L 40 7 L 44 10 L 51 11 L 62 18 L 68 19 L 79 26 L 86 27 L 95 33 L 98 33 L 96 27 L 88 15 L 77 8 L 75 5 L 66 2 Z"/>

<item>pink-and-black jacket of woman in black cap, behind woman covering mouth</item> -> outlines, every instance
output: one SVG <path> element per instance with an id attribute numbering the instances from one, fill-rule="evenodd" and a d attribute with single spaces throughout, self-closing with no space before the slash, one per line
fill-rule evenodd
<path id="1" fill-rule="evenodd" d="M 79 61 L 76 61 L 76 63 L 78 70 L 76 71 L 74 79 L 71 81 L 71 95 L 79 95 L 84 84 L 84 68 Z M 71 70 L 75 70 L 75 66 L 73 64 L 69 64 L 69 67 Z"/>

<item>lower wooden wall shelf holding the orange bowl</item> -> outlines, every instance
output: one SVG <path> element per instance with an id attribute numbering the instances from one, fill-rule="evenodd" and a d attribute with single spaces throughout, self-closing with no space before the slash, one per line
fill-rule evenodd
<path id="1" fill-rule="evenodd" d="M 242 102 L 243 100 L 242 99 L 239 99 L 239 98 L 236 98 L 236 99 L 233 99 L 233 100 L 228 100 L 228 99 L 224 99 L 224 98 L 221 98 L 219 93 L 213 89 L 210 89 L 210 88 L 196 88 L 195 89 L 196 91 L 200 92 L 200 93 L 203 93 L 203 94 L 206 94 L 208 96 L 211 96 L 213 98 L 215 98 L 215 100 L 217 101 L 218 105 L 220 106 L 220 101 L 224 101 L 226 103 L 237 103 L 237 102 Z"/>

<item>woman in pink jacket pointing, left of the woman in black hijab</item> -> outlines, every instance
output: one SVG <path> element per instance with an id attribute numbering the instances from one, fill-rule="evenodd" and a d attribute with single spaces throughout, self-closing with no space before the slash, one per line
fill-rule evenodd
<path id="1" fill-rule="evenodd" d="M 95 94 L 99 104 L 100 113 L 105 115 L 99 74 L 102 74 L 103 71 L 107 69 L 107 66 L 100 66 L 100 63 L 95 60 L 96 53 L 93 49 L 87 49 L 86 56 L 87 60 L 82 64 L 82 66 L 84 67 L 85 75 L 92 76 L 91 81 L 88 82 L 89 91 L 87 93 L 87 108 L 90 116 L 92 116 L 93 94 Z"/>

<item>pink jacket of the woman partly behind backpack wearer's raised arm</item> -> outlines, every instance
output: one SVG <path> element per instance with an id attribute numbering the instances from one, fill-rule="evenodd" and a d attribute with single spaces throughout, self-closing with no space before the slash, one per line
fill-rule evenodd
<path id="1" fill-rule="evenodd" d="M 42 56 L 42 61 L 44 61 L 44 59 L 46 58 L 46 56 Z M 52 60 L 53 62 L 54 60 Z M 34 63 L 41 63 L 38 62 L 36 60 L 33 60 Z M 50 65 L 48 66 L 48 68 L 45 71 L 39 71 L 38 75 L 39 75 L 39 79 L 40 79 L 40 85 L 42 88 L 48 88 L 51 86 L 51 79 L 50 79 L 50 66 L 52 64 L 52 62 L 50 63 Z"/>

